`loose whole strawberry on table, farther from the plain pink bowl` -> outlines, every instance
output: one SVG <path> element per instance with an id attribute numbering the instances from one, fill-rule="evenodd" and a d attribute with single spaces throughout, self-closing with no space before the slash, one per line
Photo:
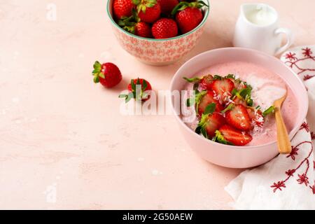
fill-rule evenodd
<path id="1" fill-rule="evenodd" d="M 104 63 L 99 62 L 94 63 L 94 71 L 92 71 L 94 76 L 94 83 L 101 83 L 104 87 L 114 87 L 120 83 L 123 79 L 118 66 L 113 63 Z"/>

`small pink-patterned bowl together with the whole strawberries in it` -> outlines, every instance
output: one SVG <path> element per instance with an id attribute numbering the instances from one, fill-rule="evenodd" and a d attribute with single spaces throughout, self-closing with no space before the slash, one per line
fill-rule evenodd
<path id="1" fill-rule="evenodd" d="M 204 30 L 209 0 L 109 0 L 120 45 L 141 62 L 172 64 L 192 50 Z"/>

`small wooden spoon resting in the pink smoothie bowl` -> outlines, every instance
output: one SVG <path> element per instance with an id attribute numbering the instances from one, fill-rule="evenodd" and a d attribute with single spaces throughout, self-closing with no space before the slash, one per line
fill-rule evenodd
<path id="1" fill-rule="evenodd" d="M 281 115 L 281 106 L 288 96 L 288 89 L 284 97 L 277 99 L 274 102 L 274 114 L 276 116 L 276 139 L 280 154 L 290 154 L 292 151 L 291 142 L 288 137 L 288 131 L 286 130 L 286 124 L 283 121 Z"/>

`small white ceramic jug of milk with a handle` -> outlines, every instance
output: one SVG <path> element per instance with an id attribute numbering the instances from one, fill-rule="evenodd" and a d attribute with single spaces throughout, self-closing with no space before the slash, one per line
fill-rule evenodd
<path id="1" fill-rule="evenodd" d="M 279 55 L 290 48 L 293 34 L 289 29 L 279 28 L 279 16 L 274 8 L 263 3 L 246 3 L 241 6 L 241 13 L 235 27 L 234 45 L 252 48 Z M 281 45 L 286 35 L 286 44 Z"/>

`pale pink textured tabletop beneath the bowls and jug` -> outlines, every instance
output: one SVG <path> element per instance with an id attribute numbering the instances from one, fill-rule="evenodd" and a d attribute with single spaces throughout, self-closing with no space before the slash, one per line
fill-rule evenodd
<path id="1" fill-rule="evenodd" d="M 167 90 L 200 52 L 231 45 L 239 6 L 211 1 L 193 52 L 165 67 L 141 64 L 116 41 L 106 1 L 0 3 L 0 209 L 229 209 L 224 186 L 241 171 L 190 150 L 172 116 L 121 116 L 118 94 L 137 76 Z M 248 2 L 248 1 L 246 1 Z M 315 1 L 264 1 L 295 45 L 314 44 Z M 92 83 L 92 63 L 118 64 L 113 90 Z"/>

